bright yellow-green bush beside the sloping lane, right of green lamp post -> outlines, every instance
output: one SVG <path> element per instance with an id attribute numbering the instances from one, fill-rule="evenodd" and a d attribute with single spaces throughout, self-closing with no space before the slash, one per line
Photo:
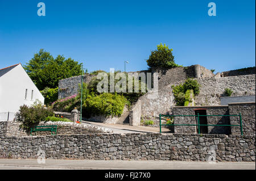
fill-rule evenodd
<path id="1" fill-rule="evenodd" d="M 118 94 L 88 95 L 82 105 L 82 112 L 85 117 L 90 115 L 121 116 L 125 104 L 129 104 L 127 99 Z"/>

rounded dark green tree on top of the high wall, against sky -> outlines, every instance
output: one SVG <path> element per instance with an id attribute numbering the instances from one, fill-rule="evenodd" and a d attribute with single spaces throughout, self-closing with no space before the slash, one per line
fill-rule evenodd
<path id="1" fill-rule="evenodd" d="M 166 44 L 157 45 L 157 49 L 151 51 L 147 60 L 147 65 L 150 67 L 174 68 L 179 65 L 175 64 L 172 49 L 169 49 Z"/>

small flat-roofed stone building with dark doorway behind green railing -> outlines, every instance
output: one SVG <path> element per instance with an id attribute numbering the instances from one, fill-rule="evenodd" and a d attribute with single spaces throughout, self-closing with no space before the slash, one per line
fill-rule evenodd
<path id="1" fill-rule="evenodd" d="M 238 116 L 240 113 L 241 119 Z M 255 102 L 229 103 L 225 106 L 175 106 L 172 115 L 191 115 L 174 117 L 174 124 L 183 124 L 174 127 L 175 133 L 199 133 L 198 127 L 184 125 L 198 124 L 197 115 L 199 115 L 202 134 L 241 134 L 240 126 L 216 126 L 240 125 L 240 123 L 243 134 L 255 134 Z"/>

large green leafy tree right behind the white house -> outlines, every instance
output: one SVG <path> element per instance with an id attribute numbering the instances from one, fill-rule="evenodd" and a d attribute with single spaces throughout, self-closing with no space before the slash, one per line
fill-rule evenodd
<path id="1" fill-rule="evenodd" d="M 59 80 L 82 74 L 82 65 L 72 58 L 58 55 L 56 58 L 40 49 L 34 57 L 24 66 L 27 74 L 38 87 L 43 90 L 46 87 L 55 89 Z"/>

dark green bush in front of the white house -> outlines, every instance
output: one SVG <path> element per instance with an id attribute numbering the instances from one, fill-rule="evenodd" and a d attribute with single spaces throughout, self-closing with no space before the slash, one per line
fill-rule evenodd
<path id="1" fill-rule="evenodd" d="M 45 108 L 42 104 L 35 103 L 31 107 L 26 105 L 20 106 L 14 120 L 22 123 L 20 128 L 30 133 L 31 128 L 38 125 L 41 121 L 45 121 L 46 117 L 53 115 L 54 113 L 51 108 Z"/>

